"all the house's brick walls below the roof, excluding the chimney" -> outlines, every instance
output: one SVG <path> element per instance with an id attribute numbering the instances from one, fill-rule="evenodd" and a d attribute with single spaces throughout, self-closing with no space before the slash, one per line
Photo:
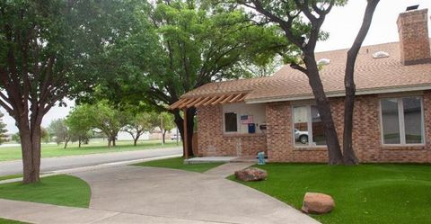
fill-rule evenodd
<path id="1" fill-rule="evenodd" d="M 423 95 L 426 145 L 420 147 L 384 147 L 381 137 L 379 98 L 356 97 L 353 146 L 363 163 L 431 162 L 431 91 Z M 333 118 L 342 143 L 344 98 L 331 98 Z M 327 148 L 295 148 L 292 133 L 291 103 L 267 104 L 267 136 L 261 134 L 224 135 L 221 106 L 198 108 L 199 156 L 254 156 L 267 151 L 273 162 L 326 162 Z"/>

